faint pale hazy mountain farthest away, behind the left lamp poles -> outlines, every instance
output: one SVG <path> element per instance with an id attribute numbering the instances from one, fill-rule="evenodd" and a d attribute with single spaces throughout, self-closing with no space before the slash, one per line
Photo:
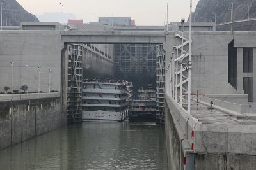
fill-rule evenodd
<path id="1" fill-rule="evenodd" d="M 59 22 L 60 13 L 44 13 L 43 15 L 36 15 L 41 22 Z M 76 16 L 72 13 L 64 13 L 64 23 L 68 22 L 68 19 L 76 19 Z M 62 13 L 61 13 L 62 23 Z"/>

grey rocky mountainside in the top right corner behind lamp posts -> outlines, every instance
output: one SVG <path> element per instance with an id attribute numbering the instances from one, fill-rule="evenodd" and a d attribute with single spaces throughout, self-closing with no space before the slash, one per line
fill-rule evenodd
<path id="1" fill-rule="evenodd" d="M 231 21 L 231 9 L 233 3 L 233 21 L 246 20 L 249 17 L 256 17 L 256 0 L 200 0 L 192 15 L 193 22 L 214 22 L 216 24 Z M 230 30 L 229 25 L 216 27 L 218 30 Z M 256 30 L 256 21 L 239 22 L 234 24 L 234 30 Z"/>

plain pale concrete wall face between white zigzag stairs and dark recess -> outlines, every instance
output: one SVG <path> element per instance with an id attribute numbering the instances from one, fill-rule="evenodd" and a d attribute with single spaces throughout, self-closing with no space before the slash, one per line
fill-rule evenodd
<path id="1" fill-rule="evenodd" d="M 180 45 L 180 39 L 170 32 L 166 35 L 166 64 L 169 63 L 173 46 Z M 189 32 L 184 31 L 184 37 L 189 39 Z M 192 32 L 192 93 L 202 94 L 236 94 L 237 91 L 228 83 L 228 44 L 234 39 L 230 32 L 193 31 Z M 188 46 L 184 50 L 188 52 Z M 184 63 L 188 60 L 184 60 Z M 214 67 L 212 67 L 214 66 Z M 216 69 L 218 67 L 218 69 Z M 186 73 L 186 72 L 184 72 Z M 220 76 L 221 75 L 221 76 Z"/>

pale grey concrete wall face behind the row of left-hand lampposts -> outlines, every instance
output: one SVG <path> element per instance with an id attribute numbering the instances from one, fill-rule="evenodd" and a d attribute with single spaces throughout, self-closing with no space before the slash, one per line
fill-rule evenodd
<path id="1" fill-rule="evenodd" d="M 11 64 L 13 66 L 13 90 L 25 85 L 27 67 L 28 92 L 38 91 L 38 67 L 40 68 L 40 90 L 60 92 L 61 71 L 60 32 L 58 31 L 1 31 L 0 32 L 0 92 L 11 89 Z M 9 90 L 10 92 L 10 90 Z"/>

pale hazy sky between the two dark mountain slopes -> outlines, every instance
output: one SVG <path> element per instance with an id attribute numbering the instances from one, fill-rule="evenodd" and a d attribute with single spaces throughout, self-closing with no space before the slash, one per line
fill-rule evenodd
<path id="1" fill-rule="evenodd" d="M 171 22 L 180 22 L 189 16 L 189 0 L 17 0 L 28 12 L 42 15 L 45 12 L 59 12 L 59 3 L 64 13 L 73 13 L 84 22 L 98 20 L 98 17 L 132 17 L 136 25 L 163 25 L 166 18 L 166 4 L 169 4 Z M 199 0 L 193 0 L 193 10 Z M 62 6 L 61 6 L 62 12 Z"/>

